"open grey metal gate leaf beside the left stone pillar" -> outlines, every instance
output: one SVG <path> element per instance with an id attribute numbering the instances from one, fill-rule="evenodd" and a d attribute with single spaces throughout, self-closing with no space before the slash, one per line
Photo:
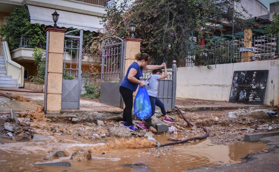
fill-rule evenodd
<path id="1" fill-rule="evenodd" d="M 82 38 L 83 29 L 66 32 L 64 36 L 61 109 L 79 109 Z"/>

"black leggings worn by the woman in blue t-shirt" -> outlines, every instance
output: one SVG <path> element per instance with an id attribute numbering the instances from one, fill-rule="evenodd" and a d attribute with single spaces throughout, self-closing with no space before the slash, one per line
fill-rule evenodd
<path id="1" fill-rule="evenodd" d="M 126 87 L 120 86 L 119 92 L 122 95 L 123 101 L 125 103 L 122 121 L 127 122 L 128 126 L 131 126 L 131 125 L 133 125 L 133 122 L 132 122 L 133 91 Z"/>

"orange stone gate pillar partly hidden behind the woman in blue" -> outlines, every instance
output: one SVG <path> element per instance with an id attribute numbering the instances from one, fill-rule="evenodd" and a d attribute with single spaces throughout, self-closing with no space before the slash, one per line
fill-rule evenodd
<path id="1" fill-rule="evenodd" d="M 126 76 L 127 70 L 129 66 L 136 61 L 135 54 L 140 52 L 140 43 L 142 42 L 142 39 L 136 39 L 136 38 L 125 38 L 123 39 L 125 41 L 125 67 L 124 67 L 124 76 Z M 133 93 L 133 99 L 135 100 L 135 96 L 137 95 L 137 90 Z M 125 105 L 123 105 L 123 108 L 125 108 Z"/>

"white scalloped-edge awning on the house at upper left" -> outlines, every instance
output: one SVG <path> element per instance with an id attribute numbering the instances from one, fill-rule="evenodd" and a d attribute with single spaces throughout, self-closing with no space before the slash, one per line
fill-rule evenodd
<path id="1" fill-rule="evenodd" d="M 56 10 L 59 14 L 58 21 L 56 22 L 58 27 L 65 28 L 77 28 L 89 31 L 97 32 L 98 29 L 102 29 L 99 21 L 101 20 L 97 16 L 86 15 L 80 13 L 73 13 L 68 11 L 62 11 L 51 8 L 38 7 L 34 5 L 28 5 L 30 13 L 31 24 L 39 23 L 46 26 L 53 26 L 52 13 Z M 101 30 L 102 32 L 102 30 Z"/>

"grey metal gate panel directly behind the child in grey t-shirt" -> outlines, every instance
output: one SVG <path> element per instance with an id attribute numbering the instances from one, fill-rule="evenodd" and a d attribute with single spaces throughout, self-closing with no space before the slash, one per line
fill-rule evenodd
<path id="1" fill-rule="evenodd" d="M 165 109 L 175 108 L 175 95 L 176 95 L 176 61 L 173 60 L 171 70 L 168 71 L 168 77 L 159 80 L 157 97 L 164 103 Z M 164 73 L 164 70 L 163 70 Z M 142 81 L 146 81 L 151 75 L 151 71 L 144 71 Z M 160 109 L 156 106 L 156 109 Z"/>

